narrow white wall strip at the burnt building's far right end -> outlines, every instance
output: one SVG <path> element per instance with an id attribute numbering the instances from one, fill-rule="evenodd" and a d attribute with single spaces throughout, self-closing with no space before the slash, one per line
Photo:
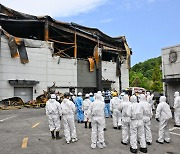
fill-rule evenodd
<path id="1" fill-rule="evenodd" d="M 129 69 L 127 69 L 127 61 L 121 64 L 121 88 L 126 89 L 129 87 Z"/>

